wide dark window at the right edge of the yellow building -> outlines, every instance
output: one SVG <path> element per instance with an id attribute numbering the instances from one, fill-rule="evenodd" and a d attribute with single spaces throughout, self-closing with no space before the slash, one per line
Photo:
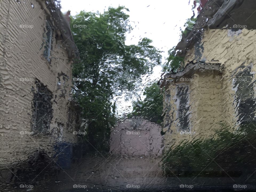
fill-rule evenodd
<path id="1" fill-rule="evenodd" d="M 239 72 L 234 78 L 236 112 L 240 123 L 255 120 L 256 105 L 252 80 L 253 74 L 249 68 Z"/>

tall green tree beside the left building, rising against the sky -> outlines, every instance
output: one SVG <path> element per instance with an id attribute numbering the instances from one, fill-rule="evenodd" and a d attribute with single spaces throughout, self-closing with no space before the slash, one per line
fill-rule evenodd
<path id="1" fill-rule="evenodd" d="M 80 90 L 75 98 L 88 119 L 86 139 L 98 150 L 108 150 L 115 122 L 111 99 L 117 88 L 133 89 L 139 77 L 161 61 L 160 51 L 148 38 L 138 45 L 125 45 L 126 33 L 132 28 L 124 11 L 129 10 L 109 7 L 103 14 L 81 11 L 70 23 L 81 58 L 72 70 Z"/>

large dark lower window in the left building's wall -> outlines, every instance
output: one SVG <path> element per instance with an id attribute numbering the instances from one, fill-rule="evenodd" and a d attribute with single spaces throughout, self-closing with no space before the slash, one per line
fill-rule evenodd
<path id="1" fill-rule="evenodd" d="M 36 81 L 36 89 L 34 90 L 33 99 L 33 119 L 32 131 L 35 133 L 46 133 L 50 128 L 51 119 L 53 118 L 53 109 L 51 99 L 53 94 Z"/>

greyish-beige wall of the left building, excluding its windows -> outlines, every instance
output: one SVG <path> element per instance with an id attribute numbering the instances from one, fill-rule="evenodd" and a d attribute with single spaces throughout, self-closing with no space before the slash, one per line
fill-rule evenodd
<path id="1" fill-rule="evenodd" d="M 1 0 L 0 17 L 0 164 L 9 164 L 37 149 L 51 155 L 57 141 L 75 141 L 69 125 L 71 62 L 54 30 L 51 62 L 43 56 L 47 17 L 35 0 Z M 37 79 L 53 95 L 50 128 L 48 133 L 20 134 L 32 131 Z"/>

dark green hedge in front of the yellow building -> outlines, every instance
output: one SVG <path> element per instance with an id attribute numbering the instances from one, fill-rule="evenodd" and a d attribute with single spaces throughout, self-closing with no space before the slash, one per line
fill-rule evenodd
<path id="1" fill-rule="evenodd" d="M 255 150 L 253 146 L 256 145 L 256 124 L 243 124 L 233 133 L 230 130 L 230 126 L 223 125 L 214 138 L 195 138 L 192 142 L 182 142 L 166 151 L 163 156 L 165 174 L 226 177 L 226 171 L 231 177 L 238 177 L 242 173 L 248 173 L 251 165 L 256 163 L 254 152 L 252 153 Z"/>

